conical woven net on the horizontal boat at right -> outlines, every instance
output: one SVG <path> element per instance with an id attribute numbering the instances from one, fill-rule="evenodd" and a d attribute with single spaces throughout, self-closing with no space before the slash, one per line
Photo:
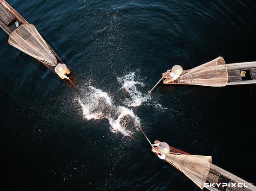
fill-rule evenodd
<path id="1" fill-rule="evenodd" d="M 178 83 L 202 86 L 226 86 L 228 73 L 225 61 L 222 57 L 218 57 L 208 63 L 183 72 L 176 81 Z"/>

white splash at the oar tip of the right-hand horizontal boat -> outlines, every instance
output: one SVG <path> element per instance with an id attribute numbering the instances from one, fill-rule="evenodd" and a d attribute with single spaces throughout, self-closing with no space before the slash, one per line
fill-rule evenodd
<path id="1" fill-rule="evenodd" d="M 129 94 L 129 98 L 126 99 L 126 104 L 129 107 L 138 107 L 143 102 L 147 102 L 148 96 L 143 95 L 138 89 L 137 86 L 144 87 L 145 84 L 135 81 L 135 72 L 131 72 L 123 77 L 118 77 L 117 80 L 122 83 L 121 89 L 125 90 Z"/>

